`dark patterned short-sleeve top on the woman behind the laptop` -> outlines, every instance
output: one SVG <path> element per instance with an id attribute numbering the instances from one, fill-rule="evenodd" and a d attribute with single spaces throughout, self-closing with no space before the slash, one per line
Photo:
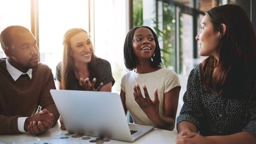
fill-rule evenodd
<path id="1" fill-rule="evenodd" d="M 98 70 L 98 79 L 96 80 L 96 84 L 94 88 L 98 88 L 99 84 L 103 82 L 103 84 L 108 84 L 112 82 L 112 86 L 115 84 L 115 80 L 112 76 L 111 65 L 107 60 L 96 58 L 96 69 Z M 56 75 L 55 79 L 61 81 L 61 62 L 56 66 Z M 89 75 L 90 82 L 93 81 L 91 75 Z M 79 85 L 78 79 L 76 79 L 75 73 L 72 75 L 72 81 L 68 84 L 69 90 L 84 90 L 82 86 Z"/>

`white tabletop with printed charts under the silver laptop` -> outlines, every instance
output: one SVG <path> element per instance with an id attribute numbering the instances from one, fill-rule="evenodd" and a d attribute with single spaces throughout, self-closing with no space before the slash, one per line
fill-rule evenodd
<path id="1" fill-rule="evenodd" d="M 92 143 L 90 141 L 96 140 L 95 137 L 90 137 L 89 140 L 81 140 L 81 138 L 72 138 L 72 135 L 66 136 L 65 134 L 67 133 L 68 132 L 66 130 L 61 130 L 60 124 L 57 123 L 42 135 L 33 136 L 29 133 L 0 135 L 0 144 L 13 144 L 14 142 L 18 144 L 129 144 L 129 142 L 116 140 Z M 60 139 L 63 137 L 69 138 L 67 140 Z M 154 130 L 137 139 L 132 144 L 175 144 L 176 137 L 177 132 L 154 128 Z"/>

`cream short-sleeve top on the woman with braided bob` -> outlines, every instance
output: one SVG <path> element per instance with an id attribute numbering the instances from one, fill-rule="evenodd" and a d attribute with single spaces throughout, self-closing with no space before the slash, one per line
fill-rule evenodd
<path id="1" fill-rule="evenodd" d="M 134 71 L 129 71 L 122 76 L 121 89 L 125 92 L 125 104 L 134 120 L 134 123 L 156 127 L 156 125 L 148 119 L 147 115 L 145 115 L 143 110 L 134 100 L 133 85 L 136 83 L 140 85 L 140 89 L 144 97 L 145 95 L 142 85 L 145 84 L 149 97 L 152 101 L 154 101 L 154 89 L 157 88 L 157 94 L 160 101 L 159 114 L 163 117 L 164 94 L 169 92 L 171 89 L 180 86 L 178 76 L 173 70 L 166 68 L 161 68 L 155 72 L 145 74 L 138 74 Z M 170 101 L 170 103 L 172 103 L 172 101 Z"/>

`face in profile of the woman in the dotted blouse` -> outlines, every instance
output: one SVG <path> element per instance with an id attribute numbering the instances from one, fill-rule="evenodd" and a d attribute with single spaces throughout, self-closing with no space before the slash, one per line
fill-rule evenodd
<path id="1" fill-rule="evenodd" d="M 199 55 L 214 56 L 218 59 L 216 47 L 220 40 L 220 32 L 214 32 L 208 15 L 205 15 L 200 24 L 200 32 L 195 37 L 198 40 Z"/>

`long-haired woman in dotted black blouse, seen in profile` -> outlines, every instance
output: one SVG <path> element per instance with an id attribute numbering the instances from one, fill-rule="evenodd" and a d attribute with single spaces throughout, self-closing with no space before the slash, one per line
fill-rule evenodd
<path id="1" fill-rule="evenodd" d="M 177 144 L 256 144 L 256 38 L 237 5 L 206 12 L 177 118 Z"/>

